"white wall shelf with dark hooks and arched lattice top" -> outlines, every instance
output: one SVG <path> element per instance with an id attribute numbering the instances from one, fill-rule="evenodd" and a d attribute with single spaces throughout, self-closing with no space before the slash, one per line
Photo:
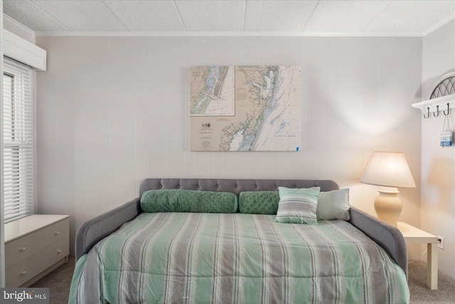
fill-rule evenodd
<path id="1" fill-rule="evenodd" d="M 412 107 L 420 109 L 426 119 L 430 117 L 430 112 L 433 112 L 434 117 L 439 116 L 439 105 L 447 106 L 447 113 L 444 110 L 444 115 L 449 115 L 450 109 L 455 108 L 455 72 L 448 73 L 439 79 L 429 100 L 413 103 Z"/>

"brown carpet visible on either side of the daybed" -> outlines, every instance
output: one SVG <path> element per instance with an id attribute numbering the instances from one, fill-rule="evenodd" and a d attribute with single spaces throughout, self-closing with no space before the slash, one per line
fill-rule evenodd
<path id="1" fill-rule="evenodd" d="M 48 287 L 50 304 L 68 303 L 71 278 L 75 265 L 74 257 L 55 271 L 41 278 L 31 287 Z M 455 280 L 439 272 L 438 290 L 427 288 L 427 264 L 424 261 L 409 263 L 409 285 L 412 304 L 455 303 Z"/>

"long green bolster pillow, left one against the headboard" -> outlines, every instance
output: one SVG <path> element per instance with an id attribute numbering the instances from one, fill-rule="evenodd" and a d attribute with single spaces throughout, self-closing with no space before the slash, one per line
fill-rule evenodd
<path id="1" fill-rule="evenodd" d="M 144 212 L 236 213 L 238 204 L 237 195 L 230 192 L 159 189 L 142 194 L 141 209 Z"/>

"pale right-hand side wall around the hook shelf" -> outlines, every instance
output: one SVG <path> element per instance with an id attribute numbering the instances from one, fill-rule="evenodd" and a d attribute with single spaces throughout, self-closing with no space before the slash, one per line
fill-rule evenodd
<path id="1" fill-rule="evenodd" d="M 448 72 L 455 72 L 455 20 L 423 38 L 422 100 L 429 99 L 437 80 Z M 439 147 L 443 124 L 444 115 L 422 118 L 422 229 L 444 236 L 439 270 L 455 278 L 455 148 Z"/>

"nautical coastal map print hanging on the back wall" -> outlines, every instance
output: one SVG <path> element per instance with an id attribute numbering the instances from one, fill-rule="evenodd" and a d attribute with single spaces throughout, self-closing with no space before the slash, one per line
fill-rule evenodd
<path id="1" fill-rule="evenodd" d="M 298 151 L 299 65 L 190 68 L 192 151 Z"/>

